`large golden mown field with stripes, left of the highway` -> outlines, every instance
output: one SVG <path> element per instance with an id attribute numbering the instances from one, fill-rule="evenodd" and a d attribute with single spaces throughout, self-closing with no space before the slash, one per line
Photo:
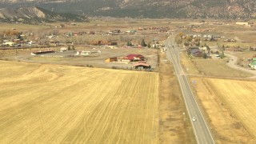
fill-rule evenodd
<path id="1" fill-rule="evenodd" d="M 0 143 L 158 143 L 157 73 L 0 67 Z"/>

